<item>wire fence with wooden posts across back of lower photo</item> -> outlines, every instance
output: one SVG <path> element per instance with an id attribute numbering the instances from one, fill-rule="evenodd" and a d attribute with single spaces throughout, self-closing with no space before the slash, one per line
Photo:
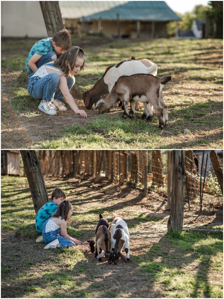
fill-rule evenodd
<path id="1" fill-rule="evenodd" d="M 185 201 L 202 200 L 205 193 L 223 205 L 223 196 L 209 156 L 210 151 L 185 151 Z M 223 168 L 220 151 L 219 164 Z M 39 150 L 45 177 L 108 181 L 128 185 L 150 198 L 171 197 L 172 151 L 168 150 Z M 198 202 L 198 200 L 197 200 Z"/>

